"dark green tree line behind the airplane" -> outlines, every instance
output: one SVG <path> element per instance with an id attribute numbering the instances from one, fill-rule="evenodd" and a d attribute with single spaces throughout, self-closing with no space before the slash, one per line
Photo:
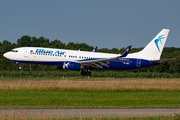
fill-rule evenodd
<path id="1" fill-rule="evenodd" d="M 49 48 L 59 48 L 59 49 L 71 49 L 71 50 L 81 50 L 81 51 L 92 51 L 93 46 L 87 45 L 86 43 L 74 43 L 69 42 L 68 44 L 62 43 L 60 40 L 50 41 L 44 37 L 31 37 L 24 35 L 17 40 L 17 43 L 11 43 L 8 40 L 0 42 L 0 70 L 1 71 L 12 71 L 19 70 L 18 65 L 14 64 L 12 61 L 3 57 L 5 52 L 11 51 L 13 48 L 17 47 L 49 47 Z M 126 48 L 102 48 L 98 49 L 97 52 L 104 53 L 123 53 Z M 130 53 L 138 52 L 143 48 L 132 48 Z M 180 73 L 180 48 L 175 47 L 165 47 L 161 55 L 161 59 L 176 58 L 176 60 L 165 61 L 161 65 L 156 67 L 151 67 L 149 69 L 134 70 L 134 72 L 159 72 L 159 73 Z M 54 66 L 48 65 L 30 65 L 22 64 L 23 71 L 54 71 Z"/>

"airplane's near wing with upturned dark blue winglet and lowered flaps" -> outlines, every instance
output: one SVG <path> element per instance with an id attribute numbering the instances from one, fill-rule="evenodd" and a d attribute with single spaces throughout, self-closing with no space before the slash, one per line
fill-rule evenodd
<path id="1" fill-rule="evenodd" d="M 98 59 L 98 60 L 79 61 L 79 63 L 82 66 L 91 66 L 93 68 L 98 68 L 98 69 L 101 68 L 101 69 L 103 69 L 102 66 L 109 67 L 108 64 L 109 64 L 110 60 L 116 60 L 118 58 L 126 57 L 128 55 L 128 53 L 129 53 L 130 49 L 131 49 L 131 46 L 129 46 L 122 55 L 117 56 L 117 57 L 104 58 L 104 59 Z"/>

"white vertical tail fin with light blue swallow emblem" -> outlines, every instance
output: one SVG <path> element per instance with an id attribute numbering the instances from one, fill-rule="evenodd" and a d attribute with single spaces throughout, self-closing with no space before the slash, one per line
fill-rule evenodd
<path id="1" fill-rule="evenodd" d="M 134 55 L 142 59 L 158 60 L 161 57 L 169 29 L 162 29 L 159 34 L 140 52 Z"/>

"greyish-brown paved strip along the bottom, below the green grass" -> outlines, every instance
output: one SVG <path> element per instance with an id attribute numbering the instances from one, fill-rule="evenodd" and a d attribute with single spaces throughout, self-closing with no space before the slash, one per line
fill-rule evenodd
<path id="1" fill-rule="evenodd" d="M 180 109 L 150 108 L 150 109 L 0 109 L 0 114 L 6 116 L 24 117 L 145 117 L 174 116 L 180 114 Z"/>

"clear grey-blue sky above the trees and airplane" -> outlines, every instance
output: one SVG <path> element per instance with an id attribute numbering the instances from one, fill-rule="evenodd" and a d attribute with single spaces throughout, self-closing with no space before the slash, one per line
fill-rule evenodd
<path id="1" fill-rule="evenodd" d="M 0 0 L 0 42 L 24 35 L 98 48 L 145 47 L 170 29 L 180 47 L 180 0 Z"/>

